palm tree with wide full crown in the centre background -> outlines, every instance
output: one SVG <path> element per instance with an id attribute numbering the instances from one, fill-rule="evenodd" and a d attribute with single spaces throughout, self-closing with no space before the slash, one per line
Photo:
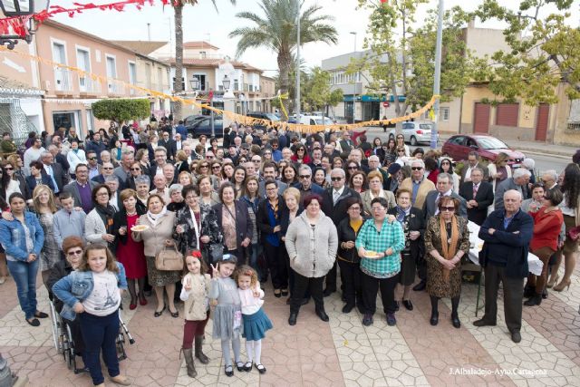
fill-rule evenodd
<path id="1" fill-rule="evenodd" d="M 261 0 L 262 17 L 253 12 L 240 12 L 237 17 L 247 19 L 256 25 L 240 27 L 229 33 L 229 37 L 240 37 L 237 43 L 237 56 L 248 48 L 267 47 L 277 54 L 280 89 L 288 92 L 288 74 L 292 67 L 292 53 L 296 48 L 296 15 L 301 11 L 304 0 Z M 311 5 L 300 14 L 300 43 L 324 42 L 336 44 L 337 32 L 326 21 L 333 20 L 329 15 L 314 15 L 322 7 Z M 283 100 L 285 109 L 288 100 Z"/>

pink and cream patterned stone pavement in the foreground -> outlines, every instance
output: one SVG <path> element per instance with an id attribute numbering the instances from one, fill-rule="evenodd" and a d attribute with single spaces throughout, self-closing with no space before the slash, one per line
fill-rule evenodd
<path id="1" fill-rule="evenodd" d="M 87 374 L 67 370 L 53 347 L 48 320 L 36 328 L 24 323 L 11 278 L 0 285 L 0 297 L 0 352 L 13 371 L 26 374 L 32 386 L 92 385 Z M 39 309 L 48 312 L 43 286 L 38 297 Z M 380 300 L 374 324 L 364 327 L 362 315 L 355 310 L 341 312 L 343 303 L 338 294 L 325 299 L 329 324 L 315 316 L 311 302 L 302 307 L 298 323 L 291 327 L 286 323 L 285 299 L 275 298 L 266 287 L 266 313 L 275 325 L 263 342 L 266 374 L 254 369 L 235 371 L 234 377 L 228 378 L 220 344 L 211 339 L 210 322 L 204 348 L 211 360 L 208 365 L 196 363 L 196 380 L 188 377 L 185 362 L 179 359 L 183 320 L 168 313 L 154 318 L 150 302 L 135 311 L 122 312 L 136 343 L 126 343 L 129 358 L 121 362 L 121 372 L 133 378 L 135 386 L 580 385 L 578 271 L 569 291 L 549 292 L 539 307 L 524 307 L 519 344 L 512 343 L 507 334 L 501 302 L 498 326 L 476 328 L 471 324 L 477 319 L 475 285 L 463 285 L 461 329 L 450 324 L 449 300 L 440 303 L 440 324 L 433 327 L 429 324 L 429 297 L 425 292 L 412 292 L 411 297 L 414 310 L 401 306 L 394 327 L 386 324 Z"/>

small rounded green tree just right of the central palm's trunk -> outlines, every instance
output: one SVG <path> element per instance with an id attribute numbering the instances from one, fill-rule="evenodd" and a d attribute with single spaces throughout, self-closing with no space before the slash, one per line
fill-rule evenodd
<path id="1" fill-rule="evenodd" d="M 343 91 L 331 91 L 330 73 L 316 66 L 311 69 L 310 79 L 305 82 L 304 102 L 312 111 L 326 111 L 329 106 L 336 106 L 343 101 Z"/>

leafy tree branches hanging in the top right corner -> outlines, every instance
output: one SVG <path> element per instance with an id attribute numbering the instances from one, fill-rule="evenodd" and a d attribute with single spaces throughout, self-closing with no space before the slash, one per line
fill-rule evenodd
<path id="1" fill-rule="evenodd" d="M 504 36 L 511 51 L 481 61 L 478 80 L 488 81 L 489 89 L 507 100 L 520 97 L 530 105 L 557 102 L 559 82 L 565 83 L 570 99 L 580 98 L 580 30 L 570 25 L 573 3 L 524 0 L 513 11 L 505 2 L 485 0 L 475 15 L 483 22 L 506 23 Z"/>

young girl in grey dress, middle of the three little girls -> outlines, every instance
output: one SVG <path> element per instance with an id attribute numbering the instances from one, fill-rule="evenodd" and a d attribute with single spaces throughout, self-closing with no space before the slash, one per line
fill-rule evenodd
<path id="1" fill-rule="evenodd" d="M 209 285 L 209 298 L 215 300 L 213 338 L 221 340 L 221 351 L 226 364 L 226 375 L 234 375 L 229 342 L 234 349 L 237 371 L 245 371 L 240 360 L 240 340 L 242 332 L 242 306 L 237 292 L 236 282 L 231 278 L 236 269 L 237 257 L 224 255 L 217 266 L 211 265 L 213 276 Z"/>

